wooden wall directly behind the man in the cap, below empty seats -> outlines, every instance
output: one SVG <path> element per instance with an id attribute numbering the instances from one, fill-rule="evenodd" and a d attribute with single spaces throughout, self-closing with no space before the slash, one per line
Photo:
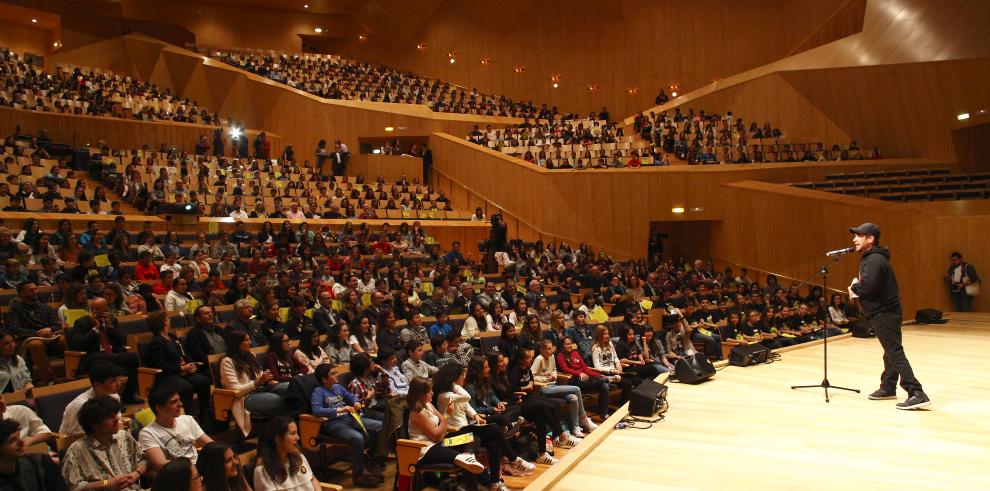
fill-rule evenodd
<path id="1" fill-rule="evenodd" d="M 908 317 L 925 307 L 951 310 L 942 280 L 950 252 L 962 251 L 977 266 L 990 261 L 988 209 L 959 216 L 948 210 L 950 203 L 882 203 L 753 181 L 723 186 L 723 196 L 736 206 L 711 227 L 707 250 L 698 255 L 800 279 L 826 262 L 825 251 L 851 245 L 850 226 L 873 222 L 891 249 Z M 843 258 L 831 269 L 829 286 L 848 286 L 858 268 L 855 254 Z"/>

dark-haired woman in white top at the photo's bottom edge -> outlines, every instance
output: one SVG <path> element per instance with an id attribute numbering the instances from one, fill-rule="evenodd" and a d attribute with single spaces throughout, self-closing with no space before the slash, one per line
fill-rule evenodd
<path id="1" fill-rule="evenodd" d="M 254 491 L 320 491 L 313 468 L 299 450 L 296 423 L 288 417 L 270 421 L 258 438 Z"/>

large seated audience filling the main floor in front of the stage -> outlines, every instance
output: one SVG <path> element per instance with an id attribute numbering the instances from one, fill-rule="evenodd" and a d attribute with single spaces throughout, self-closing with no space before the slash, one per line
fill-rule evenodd
<path id="1" fill-rule="evenodd" d="M 150 226 L 132 234 L 125 225 L 121 217 L 96 246 L 116 250 L 42 252 L 40 266 L 25 259 L 74 237 L 71 223 L 51 234 L 33 219 L 13 233 L 0 229 L 4 280 L 16 287 L 0 336 L 4 390 L 57 381 L 50 361 L 66 349 L 85 353 L 80 374 L 92 389 L 66 407 L 60 431 L 85 435 L 61 459 L 73 488 L 138 489 L 157 473 L 153 489 L 161 489 L 173 466 L 197 472 L 190 465 L 198 453 L 209 449 L 218 454 L 211 462 L 222 461 L 229 449 L 213 450 L 220 444 L 210 435 L 228 423 L 214 420 L 212 386 L 230 394 L 236 431 L 259 434 L 253 473 L 227 467 L 221 481 L 255 489 L 313 481 L 296 445 L 298 423 L 284 416 L 309 413 L 326 418 L 320 432 L 348 448 L 355 485 L 380 485 L 388 435 L 401 426 L 427 444 L 454 439 L 427 446 L 424 462 L 454 464 L 466 479 L 504 489 L 502 476 L 554 464 L 555 447 L 579 445 L 596 428 L 592 417 L 607 417 L 679 357 L 698 350 L 719 359 L 723 341 L 791 345 L 853 317 L 838 295 L 826 308 L 820 288 L 802 295 L 773 276 L 760 285 L 745 270 L 736 276 L 700 260 L 621 263 L 586 244 L 515 242 L 504 270 L 484 275 L 456 242 L 445 253 L 392 247 L 422 239 L 416 227 L 358 224 L 335 233 L 286 224 L 271 241 L 239 229 L 212 242 Z M 88 243 L 99 244 L 97 232 L 84 232 Z M 315 248 L 316 237 L 325 249 Z M 655 309 L 662 315 L 651 325 Z M 118 322 L 135 314 L 144 328 L 137 333 L 151 336 L 140 360 Z M 16 349 L 33 340 L 41 342 Z M 144 402 L 134 382 L 139 361 L 161 373 L 147 394 L 154 422 L 132 436 L 120 412 L 121 403 Z M 267 420 L 260 429 L 258 418 Z M 21 436 L 20 425 L 0 424 L 12 441 L 46 434 L 33 428 Z M 527 431 L 537 435 L 532 453 L 512 443 Z M 456 440 L 465 433 L 474 441 Z M 481 451 L 487 465 L 476 458 Z M 96 465 L 100 452 L 112 456 L 109 467 Z M 13 451 L 2 458 L 18 462 L 15 469 L 53 465 Z M 197 468 L 205 481 L 210 471 Z M 52 486 L 32 489 L 64 489 Z"/>

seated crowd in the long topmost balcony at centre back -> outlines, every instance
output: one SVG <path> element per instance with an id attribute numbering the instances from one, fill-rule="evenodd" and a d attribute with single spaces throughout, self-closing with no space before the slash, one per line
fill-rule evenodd
<path id="1" fill-rule="evenodd" d="M 550 119 L 557 108 L 467 91 L 411 72 L 337 56 L 215 51 L 224 63 L 326 99 L 425 104 L 437 112 Z"/>

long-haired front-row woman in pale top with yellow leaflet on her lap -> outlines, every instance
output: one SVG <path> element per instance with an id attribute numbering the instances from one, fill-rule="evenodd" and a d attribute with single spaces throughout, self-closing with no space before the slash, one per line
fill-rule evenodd
<path id="1" fill-rule="evenodd" d="M 468 472 L 466 481 L 477 480 L 484 486 L 491 485 L 491 477 L 485 466 L 478 462 L 473 453 L 467 452 L 464 445 L 445 447 L 437 445 L 447 435 L 447 414 L 454 409 L 447 406 L 447 413 L 440 414 L 430 402 L 433 400 L 433 382 L 428 378 L 416 377 L 409 383 L 409 439 L 426 442 L 427 445 L 419 451 L 418 464 L 454 464 Z M 477 476 L 477 477 L 475 477 Z M 468 487 L 472 483 L 468 483 Z"/>

